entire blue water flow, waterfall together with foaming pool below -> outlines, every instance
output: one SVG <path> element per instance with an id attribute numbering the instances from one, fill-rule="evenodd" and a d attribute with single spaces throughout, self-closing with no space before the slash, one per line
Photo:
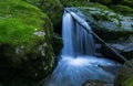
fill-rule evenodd
<path id="1" fill-rule="evenodd" d="M 73 13 L 73 15 L 75 14 Z M 91 30 L 83 19 L 75 17 Z M 61 60 L 43 86 L 82 86 L 88 79 L 113 83 L 120 64 L 106 58 L 94 57 L 93 36 L 74 22 L 71 14 L 66 12 L 63 14 L 62 39 L 64 46 Z M 110 71 L 108 72 L 103 67 Z"/>

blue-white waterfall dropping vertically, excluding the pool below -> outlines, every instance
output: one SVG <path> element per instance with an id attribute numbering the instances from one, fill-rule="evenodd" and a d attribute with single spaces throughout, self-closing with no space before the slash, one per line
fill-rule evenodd
<path id="1" fill-rule="evenodd" d="M 83 19 L 75 14 L 74 17 L 91 30 L 91 26 Z M 62 28 L 62 39 L 64 44 L 62 55 L 94 55 L 93 36 L 78 22 L 74 22 L 70 13 L 64 12 Z"/>

